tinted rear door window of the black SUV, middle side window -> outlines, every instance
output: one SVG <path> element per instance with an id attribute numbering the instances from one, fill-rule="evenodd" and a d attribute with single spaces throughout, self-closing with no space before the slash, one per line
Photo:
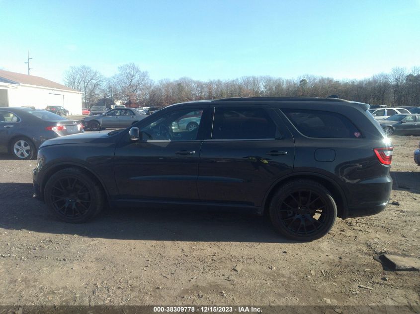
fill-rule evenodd
<path id="1" fill-rule="evenodd" d="M 262 108 L 216 108 L 212 139 L 277 138 L 277 127 Z"/>

